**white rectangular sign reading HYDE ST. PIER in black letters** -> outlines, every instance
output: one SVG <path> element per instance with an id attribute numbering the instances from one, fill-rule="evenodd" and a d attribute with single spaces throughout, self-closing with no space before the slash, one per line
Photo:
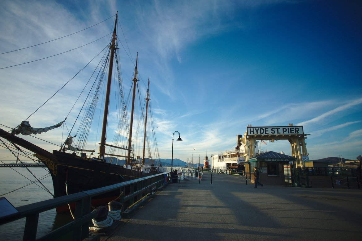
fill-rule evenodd
<path id="1" fill-rule="evenodd" d="M 303 126 L 247 127 L 248 136 L 256 135 L 303 135 Z"/>

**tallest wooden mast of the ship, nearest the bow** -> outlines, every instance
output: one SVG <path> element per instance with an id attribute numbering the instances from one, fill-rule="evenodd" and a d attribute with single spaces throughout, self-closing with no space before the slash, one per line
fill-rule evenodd
<path id="1" fill-rule="evenodd" d="M 104 102 L 104 113 L 103 113 L 101 143 L 100 143 L 100 146 L 99 146 L 99 158 L 100 159 L 104 159 L 104 154 L 106 152 L 105 142 L 106 142 L 106 131 L 107 131 L 109 96 L 110 96 L 112 71 L 113 71 L 113 57 L 114 57 L 114 51 L 115 51 L 115 48 L 116 48 L 115 40 L 116 40 L 116 29 L 117 29 L 117 17 L 118 17 L 118 11 L 115 14 L 115 22 L 114 22 L 112 43 L 111 43 L 111 45 L 108 46 L 110 48 L 111 53 L 110 53 L 110 57 L 109 57 L 108 79 L 107 79 L 106 97 L 105 97 L 105 102 Z"/>

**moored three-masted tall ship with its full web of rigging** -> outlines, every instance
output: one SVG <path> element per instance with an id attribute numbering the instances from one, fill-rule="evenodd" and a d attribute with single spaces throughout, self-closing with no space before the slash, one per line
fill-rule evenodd
<path id="1" fill-rule="evenodd" d="M 83 104 L 75 102 L 73 105 L 74 108 L 79 107 L 78 114 L 71 117 L 69 115 L 53 126 L 47 125 L 49 127 L 34 128 L 31 127 L 29 121 L 34 118 L 34 112 L 30 115 L 31 118 L 28 117 L 22 122 L 19 121 L 21 124 L 17 127 L 9 128 L 10 130 L 0 129 L 3 148 L 9 150 L 12 155 L 17 152 L 21 157 L 30 157 L 35 162 L 45 164 L 52 178 L 54 187 L 54 194 L 52 195 L 54 197 L 138 179 L 153 175 L 152 172 L 156 170 L 154 166 L 157 159 L 159 160 L 157 145 L 155 143 L 150 144 L 152 140 L 150 140 L 151 138 L 148 137 L 147 133 L 148 86 L 150 82 L 148 80 L 147 96 L 144 99 L 146 105 L 143 105 L 146 106 L 146 113 L 144 113 L 144 108 L 140 108 L 138 110 L 140 112 L 139 118 L 136 119 L 135 99 L 138 96 L 136 91 L 139 90 L 138 54 L 134 63 L 132 84 L 130 84 L 129 102 L 131 101 L 131 103 L 128 104 L 123 96 L 124 84 L 120 74 L 116 31 L 117 18 L 118 13 L 115 14 L 113 34 L 105 48 L 104 56 L 98 64 L 94 64 L 97 69 L 94 70 L 89 79 L 84 81 L 86 82 L 84 91 L 78 93 L 79 96 L 75 96 L 77 100 L 80 100 L 83 96 L 85 99 Z M 103 90 L 104 92 L 102 92 Z M 58 91 L 55 93 L 58 93 Z M 34 96 L 34 98 L 42 98 L 42 96 Z M 102 103 L 101 99 L 103 100 Z M 113 100 L 117 103 L 113 104 L 111 102 Z M 130 109 L 127 109 L 128 107 Z M 59 108 L 59 105 L 57 108 Z M 112 112 L 110 108 L 114 108 L 115 111 Z M 101 118 L 94 118 L 97 113 L 101 114 Z M 39 119 L 41 118 L 39 117 Z M 115 119 L 116 123 L 112 123 L 112 127 L 108 126 L 111 123 L 110 118 Z M 74 119 L 74 124 L 67 124 L 67 119 Z M 135 126 L 142 126 L 144 130 L 134 130 L 134 122 L 137 122 Z M 63 127 L 63 130 L 59 131 L 62 129 L 61 127 Z M 154 130 L 153 127 L 151 129 Z M 42 136 L 47 136 L 52 131 L 60 134 L 59 141 L 63 140 L 62 145 L 56 146 L 56 149 L 52 151 L 48 151 L 30 141 L 31 136 L 36 134 L 39 136 L 41 133 Z M 100 133 L 99 140 L 94 140 L 96 139 L 96 133 Z M 136 133 L 139 134 L 139 137 L 135 136 Z M 33 140 L 38 141 L 38 138 Z M 47 146 L 49 145 L 50 142 L 48 141 Z M 98 150 L 96 151 L 94 149 L 97 149 L 95 148 L 97 145 Z M 146 148 L 146 146 L 148 147 Z M 156 153 L 153 157 L 151 149 L 155 150 L 154 153 Z M 92 199 L 92 205 L 105 204 L 118 196 L 119 192 L 97 196 Z M 66 210 L 61 210 L 61 208 L 57 210 L 57 212 L 62 211 Z"/>

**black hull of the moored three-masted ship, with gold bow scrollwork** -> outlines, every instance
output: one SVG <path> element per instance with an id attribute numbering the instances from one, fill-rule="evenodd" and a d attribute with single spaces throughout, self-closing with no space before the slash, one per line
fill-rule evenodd
<path id="1" fill-rule="evenodd" d="M 83 192 L 96 188 L 134 180 L 153 174 L 124 168 L 98 159 L 78 157 L 73 154 L 53 150 L 57 161 L 49 161 L 40 156 L 39 159 L 50 171 L 54 197 Z M 66 186 L 67 184 L 67 186 Z M 119 191 L 113 191 L 92 198 L 92 205 L 106 205 L 119 197 Z M 69 211 L 68 207 L 59 207 L 57 212 Z"/>

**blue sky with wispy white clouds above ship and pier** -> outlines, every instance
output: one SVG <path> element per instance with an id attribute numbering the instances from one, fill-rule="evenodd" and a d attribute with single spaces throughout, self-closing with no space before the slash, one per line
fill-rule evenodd
<path id="1" fill-rule="evenodd" d="M 248 124 L 289 123 L 310 134 L 310 160 L 356 160 L 362 154 L 359 0 L 1 1 L 0 128 L 20 124 L 109 37 L 30 61 L 108 35 L 117 10 L 120 50 L 129 53 L 121 57 L 123 78 L 131 78 L 138 52 L 144 90 L 150 77 L 160 158 L 171 158 L 175 131 L 182 142 L 174 142 L 173 158 L 197 162 L 233 150 Z M 81 34 L 5 53 L 99 22 Z M 18 65 L 25 62 L 30 63 Z M 80 88 L 73 84 L 68 93 Z M 57 113 L 69 103 L 64 93 L 60 97 L 42 108 L 42 118 L 30 119 L 31 125 L 62 121 Z M 264 150 L 291 154 L 287 140 L 266 143 Z M 9 158 L 0 150 L 0 160 Z"/>

